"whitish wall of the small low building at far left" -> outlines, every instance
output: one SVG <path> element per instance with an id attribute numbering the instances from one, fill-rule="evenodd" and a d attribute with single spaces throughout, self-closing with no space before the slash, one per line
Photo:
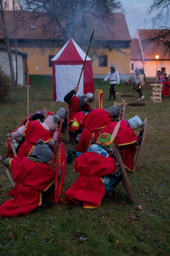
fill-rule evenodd
<path id="1" fill-rule="evenodd" d="M 16 77 L 15 53 L 12 53 L 12 62 L 14 67 L 14 75 Z M 7 51 L 0 50 L 0 65 L 2 66 L 2 69 L 4 70 L 5 74 L 10 76 L 10 64 Z M 18 85 L 23 85 L 23 62 L 22 55 L 20 54 L 18 54 Z"/>

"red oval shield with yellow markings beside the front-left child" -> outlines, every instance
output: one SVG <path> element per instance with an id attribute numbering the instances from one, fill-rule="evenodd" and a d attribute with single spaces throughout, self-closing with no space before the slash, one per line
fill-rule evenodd
<path id="1" fill-rule="evenodd" d="M 66 171 L 66 153 L 65 153 L 64 143 L 62 142 L 58 150 L 57 166 L 56 166 L 56 180 L 55 180 L 56 205 L 58 205 L 58 202 L 60 200 L 60 197 L 63 191 L 65 171 Z"/>

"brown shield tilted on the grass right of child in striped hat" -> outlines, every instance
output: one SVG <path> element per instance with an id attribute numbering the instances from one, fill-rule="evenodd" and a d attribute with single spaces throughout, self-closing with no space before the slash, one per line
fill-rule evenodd
<path id="1" fill-rule="evenodd" d="M 112 150 L 114 151 L 114 155 L 116 156 L 117 162 L 118 164 L 120 164 L 120 168 L 121 168 L 121 174 L 122 174 L 122 184 L 123 187 L 125 188 L 125 191 L 128 195 L 128 197 L 130 198 L 130 200 L 132 201 L 132 203 L 134 203 L 134 198 L 133 198 L 133 193 L 132 193 L 132 189 L 131 189 L 131 185 L 130 185 L 130 181 L 128 179 L 128 174 L 125 170 L 124 164 L 122 162 L 121 156 L 116 148 L 116 146 L 113 144 L 112 146 Z"/>

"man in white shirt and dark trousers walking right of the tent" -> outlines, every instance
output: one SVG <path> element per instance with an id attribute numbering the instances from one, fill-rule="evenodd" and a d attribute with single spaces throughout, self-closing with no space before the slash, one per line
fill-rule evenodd
<path id="1" fill-rule="evenodd" d="M 116 100 L 114 86 L 115 84 L 120 84 L 120 78 L 118 71 L 114 68 L 114 65 L 110 66 L 110 71 L 107 74 L 107 76 L 104 78 L 103 83 L 106 82 L 108 79 L 110 79 L 110 96 L 107 100 L 111 100 L 113 95 L 113 100 Z"/>

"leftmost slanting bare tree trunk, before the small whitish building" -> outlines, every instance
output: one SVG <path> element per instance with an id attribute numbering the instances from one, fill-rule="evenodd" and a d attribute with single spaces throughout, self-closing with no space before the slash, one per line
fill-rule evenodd
<path id="1" fill-rule="evenodd" d="M 2 22 L 3 22 L 3 29 L 4 29 L 4 39 L 5 39 L 5 43 L 6 43 L 6 46 L 7 46 L 8 58 L 9 58 L 9 64 L 10 64 L 10 71 L 11 71 L 11 85 L 14 85 L 15 80 L 14 80 L 14 71 L 13 71 L 13 65 L 12 65 L 12 53 L 11 53 L 11 48 L 10 48 L 10 41 L 9 41 L 9 38 L 8 38 L 8 35 L 7 35 L 7 30 L 6 30 L 2 0 L 0 0 L 0 6 L 1 6 L 0 13 L 1 13 Z"/>

